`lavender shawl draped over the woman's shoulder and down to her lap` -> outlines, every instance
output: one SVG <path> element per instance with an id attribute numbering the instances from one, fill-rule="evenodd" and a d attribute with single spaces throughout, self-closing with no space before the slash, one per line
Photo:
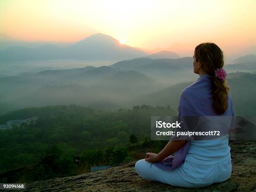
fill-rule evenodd
<path id="1" fill-rule="evenodd" d="M 185 88 L 179 96 L 178 104 L 178 116 L 203 116 L 205 111 L 210 111 L 212 109 L 211 105 L 208 104 L 212 97 L 210 91 L 211 79 L 209 75 L 200 76 L 192 85 Z M 207 103 L 202 102 L 202 98 L 206 98 Z M 200 101 L 200 102 L 198 102 Z M 209 106 L 209 109 L 205 107 Z M 211 112 L 214 114 L 214 112 Z M 185 160 L 190 147 L 190 140 L 187 140 L 184 146 L 182 146 L 177 152 L 175 152 L 174 157 L 170 155 L 166 157 L 161 162 L 154 162 L 153 164 L 164 171 L 172 171 L 179 167 Z"/>

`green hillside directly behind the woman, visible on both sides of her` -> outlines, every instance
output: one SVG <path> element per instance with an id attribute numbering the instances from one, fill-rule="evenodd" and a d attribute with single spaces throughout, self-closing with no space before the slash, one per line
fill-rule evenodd
<path id="1" fill-rule="evenodd" d="M 256 74 L 252 73 L 228 73 L 227 85 L 233 99 L 236 115 L 256 114 Z M 167 106 L 177 109 L 179 95 L 184 88 L 191 85 L 193 81 L 178 83 L 168 88 L 163 88 L 153 93 L 145 94 L 131 99 L 127 106 L 151 105 Z M 246 86 L 245 86 L 246 85 Z"/>

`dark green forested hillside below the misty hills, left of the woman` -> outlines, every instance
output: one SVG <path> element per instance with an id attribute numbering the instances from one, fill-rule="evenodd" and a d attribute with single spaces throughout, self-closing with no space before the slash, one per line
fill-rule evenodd
<path id="1" fill-rule="evenodd" d="M 166 141 L 151 141 L 152 115 L 177 113 L 169 107 L 145 105 L 113 112 L 70 105 L 20 109 L 0 116 L 0 123 L 38 116 L 35 124 L 0 130 L 1 181 L 64 177 L 88 172 L 91 166 L 129 162 L 140 156 L 143 147 L 160 150 Z M 29 165 L 20 175 L 18 168 Z M 17 172 L 4 174 L 14 169 Z"/>

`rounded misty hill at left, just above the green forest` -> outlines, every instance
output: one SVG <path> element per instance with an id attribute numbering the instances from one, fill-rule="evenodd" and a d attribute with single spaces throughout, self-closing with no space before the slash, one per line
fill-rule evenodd
<path id="1" fill-rule="evenodd" d="M 82 106 L 108 106 L 108 109 L 119 109 L 118 102 L 113 102 L 111 96 L 100 88 L 81 86 L 77 84 L 47 85 L 28 95 L 1 103 L 0 113 L 27 107 L 77 104 Z"/>

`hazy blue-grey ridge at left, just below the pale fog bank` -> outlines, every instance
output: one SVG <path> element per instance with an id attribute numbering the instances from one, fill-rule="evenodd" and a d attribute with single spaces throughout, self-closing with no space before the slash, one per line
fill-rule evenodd
<path id="1" fill-rule="evenodd" d="M 45 70 L 38 73 L 23 73 L 0 78 L 0 101 L 8 101 L 26 96 L 47 85 L 79 84 L 92 86 L 118 70 L 107 66 Z"/>

